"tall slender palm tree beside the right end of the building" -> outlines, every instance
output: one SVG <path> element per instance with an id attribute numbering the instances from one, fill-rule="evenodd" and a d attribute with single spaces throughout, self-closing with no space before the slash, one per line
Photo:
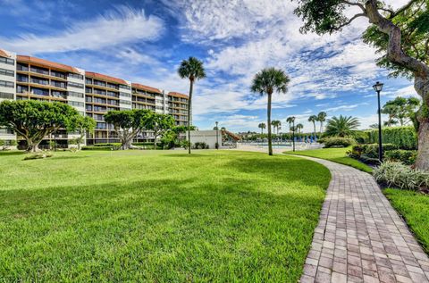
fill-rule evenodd
<path id="1" fill-rule="evenodd" d="M 188 105 L 188 153 L 190 154 L 190 126 L 191 126 L 191 112 L 192 112 L 192 91 L 194 82 L 197 79 L 206 78 L 206 71 L 204 71 L 203 62 L 195 57 L 189 57 L 188 60 L 183 60 L 179 69 L 177 70 L 181 79 L 189 79 L 189 105 Z"/>

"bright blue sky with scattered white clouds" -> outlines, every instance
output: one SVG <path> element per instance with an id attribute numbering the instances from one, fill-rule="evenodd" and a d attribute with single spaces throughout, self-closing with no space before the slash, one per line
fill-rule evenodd
<path id="1" fill-rule="evenodd" d="M 375 66 L 377 54 L 360 39 L 365 19 L 331 36 L 301 35 L 293 9 L 283 0 L 0 0 L 0 48 L 182 93 L 189 82 L 177 67 L 196 56 L 207 73 L 193 100 L 199 129 L 219 121 L 258 130 L 266 97 L 249 87 L 270 66 L 291 79 L 289 92 L 273 97 L 273 120 L 285 125 L 295 115 L 308 131 L 308 116 L 320 111 L 356 116 L 362 128 L 376 122 L 376 80 L 385 84 L 383 102 L 415 95 L 410 81 L 388 79 Z"/>

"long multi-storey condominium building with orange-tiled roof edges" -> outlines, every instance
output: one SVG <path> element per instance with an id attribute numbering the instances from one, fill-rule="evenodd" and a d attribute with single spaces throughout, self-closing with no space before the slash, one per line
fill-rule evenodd
<path id="1" fill-rule="evenodd" d="M 172 115 L 176 125 L 189 122 L 186 95 L 0 49 L 0 102 L 4 99 L 70 104 L 97 121 L 95 132 L 87 135 L 88 145 L 118 141 L 113 126 L 104 118 L 111 110 L 148 109 Z M 55 139 L 58 146 L 66 147 L 75 137 L 63 129 L 46 140 Z M 15 138 L 13 132 L 0 129 L 0 139 Z M 145 142 L 153 139 L 150 131 L 136 138 Z"/>

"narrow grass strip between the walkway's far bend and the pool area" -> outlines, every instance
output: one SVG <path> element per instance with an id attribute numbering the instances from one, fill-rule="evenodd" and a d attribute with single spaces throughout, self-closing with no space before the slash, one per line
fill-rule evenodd
<path id="1" fill-rule="evenodd" d="M 295 155 L 305 155 L 311 156 L 321 159 L 326 159 L 332 162 L 341 163 L 344 165 L 348 165 L 354 167 L 360 171 L 364 172 L 372 172 L 373 169 L 366 165 L 365 163 L 359 162 L 354 158 L 347 156 L 346 152 L 349 151 L 351 147 L 344 148 L 320 148 L 320 149 L 312 149 L 312 150 L 303 150 L 297 152 L 284 152 L 284 154 L 295 154 Z"/>

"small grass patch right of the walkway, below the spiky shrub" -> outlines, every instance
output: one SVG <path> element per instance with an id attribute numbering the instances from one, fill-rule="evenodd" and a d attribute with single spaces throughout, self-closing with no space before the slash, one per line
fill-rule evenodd
<path id="1" fill-rule="evenodd" d="M 429 254 L 429 196 L 396 188 L 386 188 L 383 193 Z"/>

